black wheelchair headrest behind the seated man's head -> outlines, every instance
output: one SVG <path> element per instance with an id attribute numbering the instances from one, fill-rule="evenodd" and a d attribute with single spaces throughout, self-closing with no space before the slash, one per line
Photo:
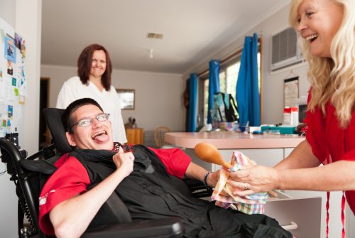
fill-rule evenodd
<path id="1" fill-rule="evenodd" d="M 72 146 L 67 141 L 67 136 L 65 136 L 65 128 L 62 124 L 62 114 L 64 109 L 59 108 L 45 108 L 43 109 L 43 114 L 45 116 L 45 121 L 47 122 L 50 134 L 52 134 L 55 147 L 57 147 L 60 153 L 67 153 L 72 151 Z"/>

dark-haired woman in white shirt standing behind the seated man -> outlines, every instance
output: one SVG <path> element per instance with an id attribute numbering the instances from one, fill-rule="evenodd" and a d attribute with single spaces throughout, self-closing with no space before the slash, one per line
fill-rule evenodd
<path id="1" fill-rule="evenodd" d="M 78 76 L 67 80 L 58 94 L 57 106 L 65 109 L 76 99 L 91 97 L 110 114 L 114 141 L 127 142 L 119 97 L 111 85 L 112 65 L 109 52 L 98 44 L 84 48 L 77 60 Z"/>

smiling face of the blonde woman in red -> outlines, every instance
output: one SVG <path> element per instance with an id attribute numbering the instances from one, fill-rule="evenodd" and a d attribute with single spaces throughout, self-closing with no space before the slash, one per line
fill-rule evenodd
<path id="1" fill-rule="evenodd" d="M 343 19 L 343 9 L 332 0 L 304 0 L 298 8 L 299 31 L 310 53 L 330 58 L 330 46 Z"/>

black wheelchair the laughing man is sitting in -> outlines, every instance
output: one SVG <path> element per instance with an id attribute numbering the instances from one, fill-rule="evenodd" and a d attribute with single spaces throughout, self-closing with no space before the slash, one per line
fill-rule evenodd
<path id="1" fill-rule="evenodd" d="M 1 161 L 6 163 L 7 173 L 15 183 L 18 196 L 18 237 L 48 237 L 39 228 L 38 197 L 45 181 L 56 170 L 53 163 L 62 154 L 72 151 L 61 121 L 63 112 L 63 109 L 44 109 L 53 144 L 32 156 L 28 156 L 27 152 L 18 146 L 17 133 L 6 134 L 5 138 L 0 138 Z M 205 188 L 201 181 L 187 179 L 185 184 L 181 186 L 179 183 L 179 190 L 186 195 L 203 198 L 212 194 L 212 189 Z M 122 212 L 117 214 L 114 210 Z M 116 193 L 102 205 L 99 212 L 109 216 L 109 222 L 87 229 L 82 237 L 182 237 L 184 234 L 184 227 L 178 217 L 132 221 Z"/>

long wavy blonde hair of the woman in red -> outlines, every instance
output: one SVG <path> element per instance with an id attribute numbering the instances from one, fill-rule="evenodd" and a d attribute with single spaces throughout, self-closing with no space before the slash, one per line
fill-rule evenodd
<path id="1" fill-rule="evenodd" d="M 302 1 L 293 0 L 290 5 L 290 24 L 296 29 L 300 18 L 297 9 Z M 303 56 L 309 62 L 307 76 L 312 86 L 308 109 L 314 112 L 315 107 L 320 107 L 325 115 L 331 99 L 340 126 L 346 128 L 355 106 L 355 1 L 329 1 L 342 6 L 344 12 L 342 24 L 332 40 L 332 58 L 313 56 L 307 40 L 300 38 Z"/>

